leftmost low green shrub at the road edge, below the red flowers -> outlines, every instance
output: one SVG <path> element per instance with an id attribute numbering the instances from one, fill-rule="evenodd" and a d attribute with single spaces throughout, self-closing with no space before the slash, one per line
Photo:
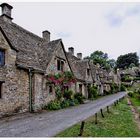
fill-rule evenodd
<path id="1" fill-rule="evenodd" d="M 58 109 L 61 109 L 60 101 L 58 101 L 58 100 L 51 101 L 47 105 L 47 109 L 49 109 L 49 110 L 58 110 Z"/>

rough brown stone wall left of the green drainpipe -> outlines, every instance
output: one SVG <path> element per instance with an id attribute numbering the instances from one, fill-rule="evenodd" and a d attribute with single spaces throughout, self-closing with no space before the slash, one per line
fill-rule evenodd
<path id="1" fill-rule="evenodd" d="M 0 116 L 25 112 L 29 107 L 28 73 L 16 68 L 16 51 L 11 49 L 1 32 L 0 48 L 5 50 L 5 65 L 0 66 L 0 81 L 4 81 L 0 99 Z"/>

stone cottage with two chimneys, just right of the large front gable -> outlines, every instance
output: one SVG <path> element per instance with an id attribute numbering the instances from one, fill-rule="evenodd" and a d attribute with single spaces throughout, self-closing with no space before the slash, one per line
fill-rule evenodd
<path id="1" fill-rule="evenodd" d="M 82 53 L 74 56 L 74 48 L 68 48 L 67 57 L 72 68 L 72 72 L 77 79 L 75 91 L 82 93 L 86 98 L 89 97 L 89 87 L 93 85 L 91 67 L 89 60 L 82 59 Z"/>

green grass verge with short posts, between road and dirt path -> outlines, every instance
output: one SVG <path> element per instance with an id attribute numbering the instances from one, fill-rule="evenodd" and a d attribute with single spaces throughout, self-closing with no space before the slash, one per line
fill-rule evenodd
<path id="1" fill-rule="evenodd" d="M 87 119 L 83 137 L 139 137 L 140 131 L 133 120 L 132 112 L 126 100 L 110 108 L 111 113 L 104 110 L 105 118 L 98 113 L 98 124 L 94 116 Z M 59 133 L 56 137 L 77 137 L 80 123 Z"/>

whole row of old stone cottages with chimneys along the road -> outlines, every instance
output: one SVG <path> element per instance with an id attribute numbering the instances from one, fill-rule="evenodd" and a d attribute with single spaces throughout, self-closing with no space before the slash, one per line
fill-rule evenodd
<path id="1" fill-rule="evenodd" d="M 74 48 L 65 51 L 61 39 L 50 41 L 50 33 L 39 37 L 12 22 L 12 6 L 3 3 L 0 16 L 0 115 L 16 109 L 36 110 L 55 99 L 53 85 L 47 85 L 46 75 L 71 71 L 77 79 L 69 89 L 82 92 L 88 98 L 88 87 L 96 84 L 100 93 L 109 90 L 108 80 L 117 81 L 117 75 L 108 74 L 82 54 L 74 56 Z M 114 77 L 115 76 L 115 77 Z M 110 79 L 109 79 L 110 78 Z"/>

